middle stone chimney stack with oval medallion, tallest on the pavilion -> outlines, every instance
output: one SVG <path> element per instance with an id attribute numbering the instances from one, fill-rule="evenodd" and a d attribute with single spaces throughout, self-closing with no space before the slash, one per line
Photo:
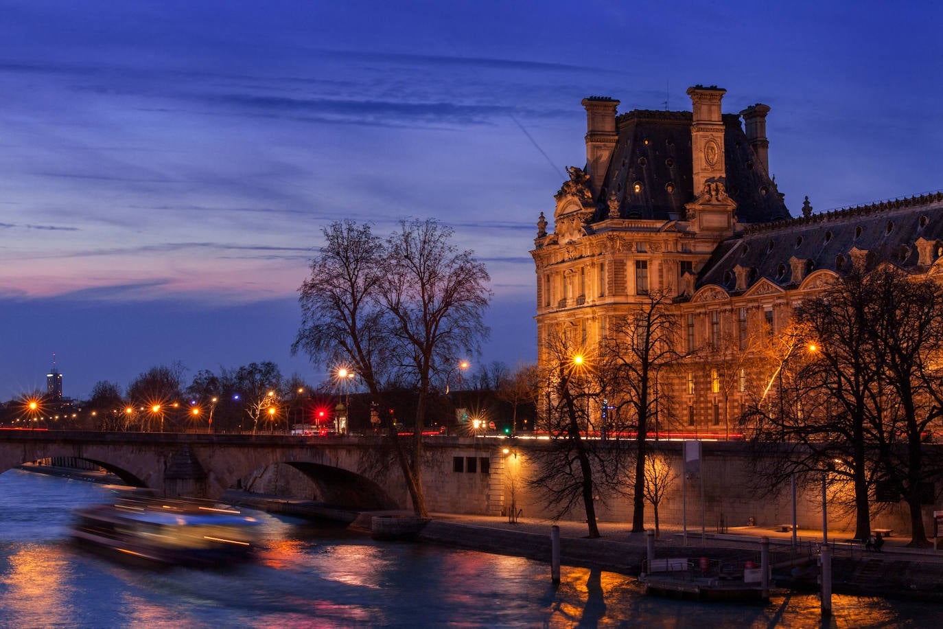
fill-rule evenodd
<path id="1" fill-rule="evenodd" d="M 727 175 L 723 153 L 723 117 L 720 101 L 727 93 L 716 85 L 687 88 L 691 97 L 691 157 L 694 162 L 694 195 L 702 193 L 708 181 L 723 182 Z"/>

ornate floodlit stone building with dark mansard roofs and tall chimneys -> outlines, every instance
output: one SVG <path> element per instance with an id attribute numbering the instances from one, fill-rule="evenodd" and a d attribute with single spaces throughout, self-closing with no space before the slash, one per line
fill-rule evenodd
<path id="1" fill-rule="evenodd" d="M 531 252 L 542 366 L 551 339 L 591 348 L 663 292 L 687 358 L 664 378 L 660 429 L 720 438 L 769 379 L 736 356 L 769 344 L 803 295 L 856 262 L 943 266 L 943 194 L 827 214 L 806 198 L 793 219 L 769 177 L 769 107 L 724 114 L 724 93 L 696 86 L 691 111 L 620 115 L 617 100 L 584 99 L 587 165 L 568 168 Z"/>

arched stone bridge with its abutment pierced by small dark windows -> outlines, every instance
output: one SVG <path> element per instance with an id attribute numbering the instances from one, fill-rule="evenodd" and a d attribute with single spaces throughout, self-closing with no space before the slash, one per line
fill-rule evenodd
<path id="1" fill-rule="evenodd" d="M 0 473 L 43 458 L 74 457 L 158 495 L 218 499 L 253 472 L 285 464 L 304 473 L 329 505 L 409 508 L 399 468 L 380 464 L 383 443 L 377 437 L 353 436 L 0 430 Z M 495 439 L 427 439 L 423 485 L 429 508 L 500 513 L 504 492 L 499 446 Z M 466 461 L 473 460 L 474 466 L 468 467 L 477 473 L 455 474 L 455 458 L 461 459 L 462 472 Z"/>

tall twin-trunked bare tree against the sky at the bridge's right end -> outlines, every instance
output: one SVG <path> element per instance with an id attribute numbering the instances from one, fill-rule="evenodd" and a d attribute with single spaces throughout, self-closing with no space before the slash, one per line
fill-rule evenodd
<path id="1" fill-rule="evenodd" d="M 401 223 L 388 240 L 351 221 L 323 233 L 324 246 L 301 288 L 302 327 L 292 351 L 356 372 L 379 408 L 387 407 L 390 387 L 416 389 L 411 444 L 398 439 L 387 413 L 381 416 L 413 508 L 425 516 L 422 426 L 431 379 L 456 356 L 475 352 L 487 334 L 488 273 L 472 252 L 457 251 L 452 230 L 435 221 Z"/>

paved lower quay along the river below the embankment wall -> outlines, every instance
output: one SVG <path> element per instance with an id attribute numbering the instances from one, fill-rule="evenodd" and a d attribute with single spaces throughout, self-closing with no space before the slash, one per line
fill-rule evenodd
<path id="1" fill-rule="evenodd" d="M 420 539 L 549 563 L 550 531 L 554 523 L 560 527 L 563 565 L 632 576 L 642 571 L 646 536 L 632 534 L 631 526 L 626 523 L 600 522 L 601 538 L 588 539 L 585 522 L 521 518 L 511 523 L 501 517 L 433 514 L 433 520 L 422 530 Z M 943 603 L 943 551 L 906 548 L 909 538 L 891 537 L 887 538 L 881 553 L 873 553 L 864 550 L 863 544 L 852 541 L 852 535 L 847 531 L 829 531 L 829 542 L 835 549 L 833 583 L 836 593 L 932 599 Z M 731 527 L 726 534 L 708 532 L 703 540 L 700 528 L 696 531 L 689 528 L 687 536 L 686 547 L 680 530 L 663 528 L 661 539 L 655 543 L 655 556 L 706 556 L 735 565 L 745 561 L 759 565 L 759 542 L 766 537 L 774 571 L 777 564 L 783 564 L 786 575 L 791 573 L 804 578 L 804 582 L 794 582 L 794 585 L 815 584 L 821 531 L 797 531 L 795 549 L 791 534 L 782 533 L 778 527 Z M 794 562 L 797 568 L 790 570 L 787 562 Z"/>

